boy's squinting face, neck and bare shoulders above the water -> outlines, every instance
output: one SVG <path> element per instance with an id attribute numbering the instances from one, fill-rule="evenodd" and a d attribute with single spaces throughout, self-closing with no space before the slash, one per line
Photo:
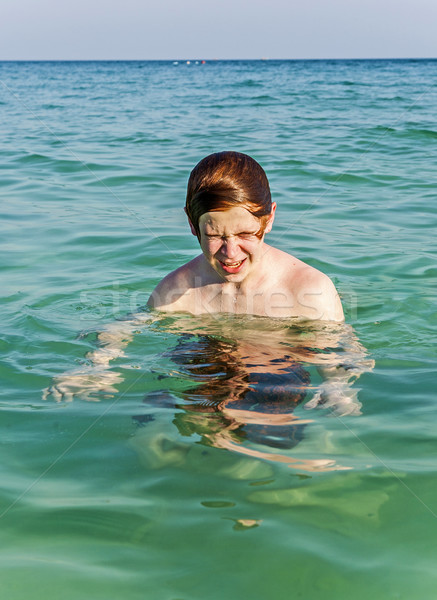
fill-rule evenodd
<path id="1" fill-rule="evenodd" d="M 165 277 L 148 305 L 163 312 L 252 314 L 343 321 L 338 293 L 326 275 L 264 242 L 261 220 L 232 207 L 199 220 L 202 254 Z M 192 233 L 196 231 L 191 225 Z"/>

